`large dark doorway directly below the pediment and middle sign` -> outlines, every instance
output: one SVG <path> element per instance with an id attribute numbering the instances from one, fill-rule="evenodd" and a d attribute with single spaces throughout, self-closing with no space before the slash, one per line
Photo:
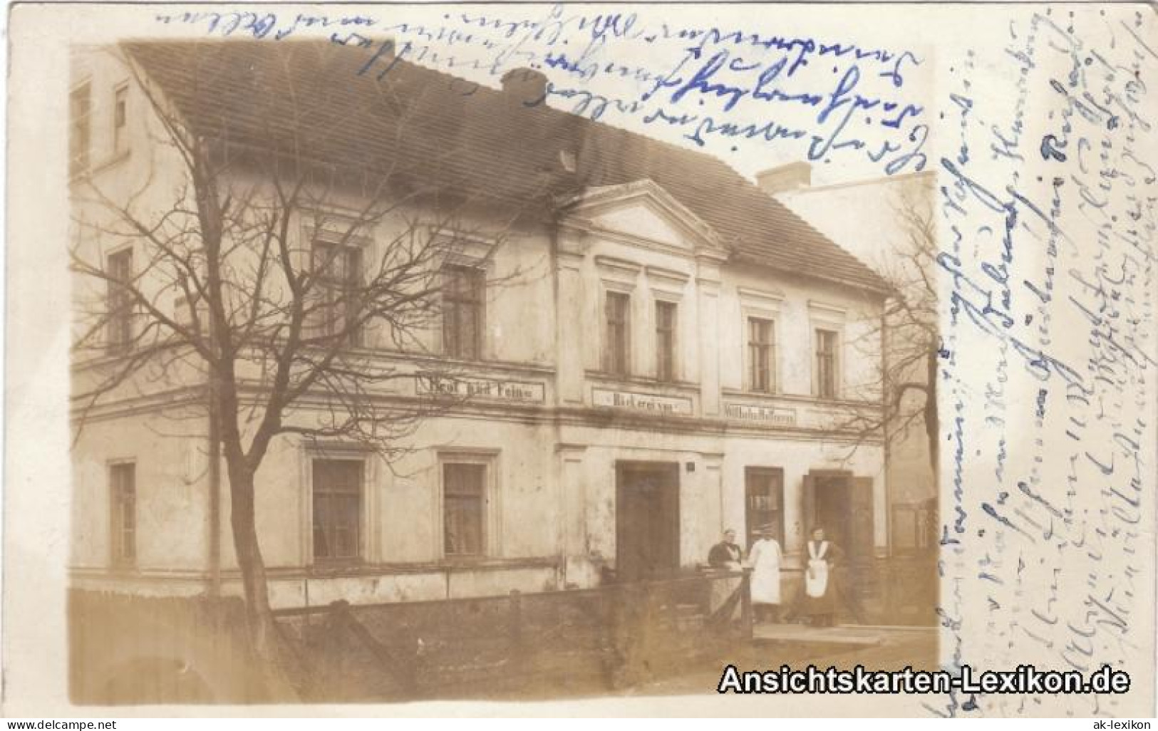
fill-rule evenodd
<path id="1" fill-rule="evenodd" d="M 615 463 L 615 569 L 623 582 L 680 569 L 679 462 Z"/>

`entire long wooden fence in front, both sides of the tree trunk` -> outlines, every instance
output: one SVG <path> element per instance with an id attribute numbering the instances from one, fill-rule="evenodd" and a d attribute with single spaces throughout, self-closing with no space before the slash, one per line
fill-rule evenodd
<path id="1" fill-rule="evenodd" d="M 240 599 L 69 592 L 76 704 L 543 697 L 635 685 L 749 637 L 748 578 L 276 613 L 283 680 L 250 652 Z M 536 690 L 537 689 L 537 690 Z"/>

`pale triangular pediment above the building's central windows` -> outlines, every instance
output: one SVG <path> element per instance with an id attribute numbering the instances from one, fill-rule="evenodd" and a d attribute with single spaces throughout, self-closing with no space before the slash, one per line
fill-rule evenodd
<path id="1" fill-rule="evenodd" d="M 591 188 L 564 202 L 566 221 L 589 231 L 689 254 L 719 247 L 719 237 L 655 182 Z"/>

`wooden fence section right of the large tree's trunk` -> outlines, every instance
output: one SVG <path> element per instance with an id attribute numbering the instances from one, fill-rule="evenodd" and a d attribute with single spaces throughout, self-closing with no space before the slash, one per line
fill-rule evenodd
<path id="1" fill-rule="evenodd" d="M 599 693 L 750 637 L 748 577 L 277 613 L 306 701 Z"/>

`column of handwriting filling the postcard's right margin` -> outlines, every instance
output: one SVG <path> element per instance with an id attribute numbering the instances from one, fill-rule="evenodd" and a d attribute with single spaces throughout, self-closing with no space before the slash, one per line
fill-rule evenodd
<path id="1" fill-rule="evenodd" d="M 1153 687 L 1153 39 L 1138 7 L 1019 12 L 995 43 L 955 53 L 939 89 L 951 667 L 1108 664 Z M 1152 712 L 1139 700 L 954 696 L 930 708 Z"/>

